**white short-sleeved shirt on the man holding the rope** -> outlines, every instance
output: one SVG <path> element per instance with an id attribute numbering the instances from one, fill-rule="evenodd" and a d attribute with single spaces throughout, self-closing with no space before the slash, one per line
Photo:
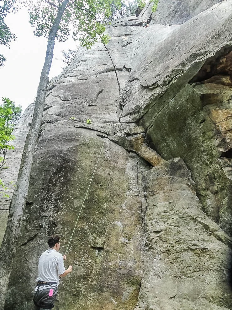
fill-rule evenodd
<path id="1" fill-rule="evenodd" d="M 64 258 L 55 249 L 48 249 L 39 258 L 37 281 L 60 284 L 59 275 L 65 272 Z"/>

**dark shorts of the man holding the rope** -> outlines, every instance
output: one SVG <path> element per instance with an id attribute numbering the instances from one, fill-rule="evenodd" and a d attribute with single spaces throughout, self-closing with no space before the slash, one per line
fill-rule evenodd
<path id="1" fill-rule="evenodd" d="M 41 291 L 34 291 L 34 309 L 35 310 L 44 310 L 44 309 L 52 309 L 55 304 L 56 296 L 58 293 L 58 287 L 53 288 L 52 296 L 49 296 L 50 288 L 45 288 Z"/>

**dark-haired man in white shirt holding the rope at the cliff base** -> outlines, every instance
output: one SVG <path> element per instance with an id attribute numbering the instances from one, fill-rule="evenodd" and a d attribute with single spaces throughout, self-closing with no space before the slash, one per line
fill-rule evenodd
<path id="1" fill-rule="evenodd" d="M 72 271 L 72 265 L 66 270 L 64 260 L 66 255 L 59 253 L 61 240 L 59 236 L 48 239 L 49 249 L 39 258 L 37 286 L 33 292 L 35 310 L 52 309 L 55 306 L 60 277 L 65 277 Z"/>

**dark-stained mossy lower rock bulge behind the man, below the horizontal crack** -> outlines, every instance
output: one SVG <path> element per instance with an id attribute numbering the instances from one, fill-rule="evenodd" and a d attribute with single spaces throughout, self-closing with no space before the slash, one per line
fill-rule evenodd
<path id="1" fill-rule="evenodd" d="M 27 289 L 35 284 L 37 261 L 46 249 L 47 235 L 59 233 L 61 251 L 65 252 L 103 144 L 94 131 L 76 129 L 72 122 L 56 123 L 56 129 L 44 128 L 37 144 L 9 290 L 10 298 L 19 298 L 16 309 L 31 308 Z M 113 301 L 125 308 L 136 304 L 143 271 L 145 199 L 141 175 L 145 170 L 147 164 L 137 155 L 107 140 L 68 250 L 66 264 L 74 267 L 69 309 L 114 309 Z M 24 270 L 30 266 L 30 272 L 19 272 L 19 262 Z M 20 289 L 14 287 L 16 278 Z M 67 285 L 68 279 L 64 279 L 59 308 L 65 305 Z"/>

